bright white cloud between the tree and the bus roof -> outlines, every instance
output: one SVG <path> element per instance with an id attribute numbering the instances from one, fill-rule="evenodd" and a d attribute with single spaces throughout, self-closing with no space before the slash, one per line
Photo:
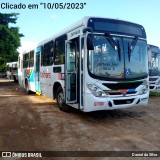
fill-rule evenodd
<path id="1" fill-rule="evenodd" d="M 36 48 L 37 44 L 38 44 L 38 42 L 34 42 L 34 41 L 22 41 L 21 47 L 19 47 L 17 50 L 19 53 L 22 53 L 25 50 Z"/>

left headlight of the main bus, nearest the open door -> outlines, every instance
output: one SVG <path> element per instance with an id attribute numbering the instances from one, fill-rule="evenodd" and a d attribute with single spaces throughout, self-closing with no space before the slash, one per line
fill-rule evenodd
<path id="1" fill-rule="evenodd" d="M 94 84 L 87 84 L 87 87 L 92 92 L 92 94 L 96 97 L 106 96 L 106 94 Z"/>

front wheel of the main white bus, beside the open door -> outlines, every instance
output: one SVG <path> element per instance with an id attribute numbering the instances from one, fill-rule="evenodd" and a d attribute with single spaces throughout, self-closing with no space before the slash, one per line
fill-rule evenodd
<path id="1" fill-rule="evenodd" d="M 59 106 L 59 109 L 64 112 L 69 112 L 70 107 L 65 104 L 64 102 L 64 93 L 62 87 L 58 87 L 57 93 L 56 93 L 56 99 L 57 99 L 57 104 Z"/>

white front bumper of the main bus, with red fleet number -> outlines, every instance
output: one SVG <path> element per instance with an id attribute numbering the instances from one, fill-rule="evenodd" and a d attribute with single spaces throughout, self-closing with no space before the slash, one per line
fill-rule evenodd
<path id="1" fill-rule="evenodd" d="M 86 94 L 84 99 L 84 112 L 97 110 L 113 110 L 148 104 L 149 92 L 143 95 L 124 97 L 95 97 L 93 94 Z"/>

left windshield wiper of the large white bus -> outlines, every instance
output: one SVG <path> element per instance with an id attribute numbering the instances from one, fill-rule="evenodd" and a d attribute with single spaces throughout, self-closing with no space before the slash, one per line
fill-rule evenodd
<path id="1" fill-rule="evenodd" d="M 121 48 L 120 48 L 119 41 L 117 43 L 109 33 L 105 33 L 105 36 L 106 36 L 108 42 L 110 43 L 110 45 L 113 47 L 113 49 L 118 52 L 119 60 L 121 60 L 121 55 L 120 55 Z"/>

